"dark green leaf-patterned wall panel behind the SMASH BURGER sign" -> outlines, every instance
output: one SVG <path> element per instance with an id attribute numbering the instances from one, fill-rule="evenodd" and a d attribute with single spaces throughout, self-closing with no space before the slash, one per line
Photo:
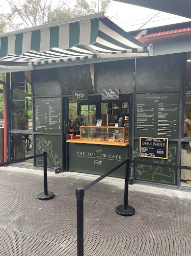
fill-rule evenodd
<path id="1" fill-rule="evenodd" d="M 139 141 L 135 141 L 135 160 L 141 162 L 153 162 L 161 164 L 177 164 L 177 147 L 176 142 L 169 142 L 168 145 L 168 159 L 155 159 L 155 158 L 144 158 L 139 157 Z M 150 165 L 136 164 L 136 180 L 155 182 L 155 183 L 167 183 L 176 185 L 177 183 L 177 172 L 173 168 L 162 168 Z"/>

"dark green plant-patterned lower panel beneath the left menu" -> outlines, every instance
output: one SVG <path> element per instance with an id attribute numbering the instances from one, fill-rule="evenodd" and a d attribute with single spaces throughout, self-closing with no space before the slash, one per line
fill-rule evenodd
<path id="1" fill-rule="evenodd" d="M 35 154 L 47 151 L 48 168 L 60 167 L 61 140 L 56 135 L 35 135 Z M 36 166 L 43 166 L 43 157 L 36 158 Z"/>

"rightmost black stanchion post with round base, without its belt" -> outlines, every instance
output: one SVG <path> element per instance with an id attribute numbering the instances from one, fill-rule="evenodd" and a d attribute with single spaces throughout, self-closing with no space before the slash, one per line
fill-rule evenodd
<path id="1" fill-rule="evenodd" d="M 116 207 L 116 212 L 122 216 L 132 216 L 135 214 L 135 209 L 128 205 L 128 192 L 129 192 L 129 168 L 130 160 L 127 158 L 125 163 L 125 191 L 124 191 L 124 204 Z"/>

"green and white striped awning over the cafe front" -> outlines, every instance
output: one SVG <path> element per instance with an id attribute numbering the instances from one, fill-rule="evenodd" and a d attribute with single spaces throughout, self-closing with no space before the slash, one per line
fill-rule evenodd
<path id="1" fill-rule="evenodd" d="M 149 56 L 149 49 L 103 13 L 0 34 L 0 61 L 4 65 L 129 55 Z"/>

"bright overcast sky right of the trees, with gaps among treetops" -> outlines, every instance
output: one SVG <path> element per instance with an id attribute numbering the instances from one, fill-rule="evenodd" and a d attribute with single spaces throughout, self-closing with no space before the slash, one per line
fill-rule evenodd
<path id="1" fill-rule="evenodd" d="M 59 0 L 53 0 L 54 4 L 56 4 L 58 1 Z M 87 1 L 91 2 L 91 0 Z M 20 0 L 20 2 L 24 2 L 24 0 Z M 68 2 L 70 3 L 71 7 L 75 4 L 75 0 L 68 0 Z M 3 8 L 2 6 L 0 7 L 0 12 L 2 12 L 2 9 L 5 12 L 8 10 L 8 4 L 6 0 L 3 2 Z M 112 21 L 123 28 L 126 32 L 136 31 L 140 28 L 146 29 L 191 21 L 190 19 L 173 14 L 159 12 L 157 10 L 112 0 L 108 15 L 114 16 L 116 13 L 117 17 L 114 17 Z"/>

